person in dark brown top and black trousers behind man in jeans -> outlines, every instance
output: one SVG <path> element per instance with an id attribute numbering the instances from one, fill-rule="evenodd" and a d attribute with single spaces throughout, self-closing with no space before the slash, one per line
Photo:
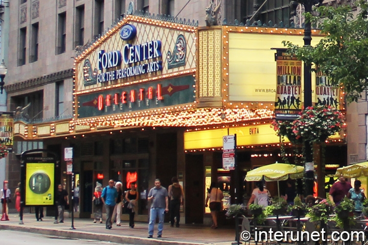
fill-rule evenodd
<path id="1" fill-rule="evenodd" d="M 171 179 L 172 185 L 169 186 L 168 194 L 170 198 L 170 226 L 174 227 L 176 217 L 176 227 L 179 227 L 180 222 L 180 206 L 183 205 L 184 191 L 179 185 L 177 177 Z"/>

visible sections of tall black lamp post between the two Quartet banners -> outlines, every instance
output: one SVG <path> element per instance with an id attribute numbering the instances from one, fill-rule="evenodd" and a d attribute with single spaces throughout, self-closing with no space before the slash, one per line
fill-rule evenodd
<path id="1" fill-rule="evenodd" d="M 315 5 L 322 5 L 324 0 L 297 0 L 291 1 L 290 6 L 292 8 L 296 8 L 296 3 L 302 4 L 304 6 L 304 11 L 306 13 L 312 12 L 312 7 Z M 292 11 L 295 14 L 295 11 Z M 308 21 L 304 22 L 304 46 L 310 46 L 312 41 L 311 36 L 311 23 Z M 312 76 L 311 76 L 311 64 L 304 62 L 304 108 L 312 106 Z M 305 195 L 313 194 L 313 184 L 314 184 L 314 167 L 313 164 L 313 150 L 312 143 L 309 141 L 305 141 L 305 163 L 306 167 L 310 164 L 310 168 L 306 168 L 306 173 L 304 176 L 305 182 Z M 309 163 L 309 164 L 308 164 Z"/>

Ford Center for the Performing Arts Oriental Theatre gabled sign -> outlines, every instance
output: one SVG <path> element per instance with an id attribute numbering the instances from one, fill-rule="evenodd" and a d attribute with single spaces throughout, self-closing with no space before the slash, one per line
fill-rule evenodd
<path id="1" fill-rule="evenodd" d="M 193 103 L 196 32 L 128 15 L 76 59 L 77 117 Z"/>

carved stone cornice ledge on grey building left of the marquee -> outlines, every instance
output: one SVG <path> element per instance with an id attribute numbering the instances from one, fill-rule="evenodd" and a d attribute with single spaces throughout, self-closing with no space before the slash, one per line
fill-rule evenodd
<path id="1" fill-rule="evenodd" d="M 58 71 L 49 75 L 45 75 L 42 77 L 32 78 L 26 81 L 5 85 L 4 88 L 7 91 L 7 93 L 13 93 L 72 77 L 73 77 L 73 69 L 71 68 L 67 70 Z"/>

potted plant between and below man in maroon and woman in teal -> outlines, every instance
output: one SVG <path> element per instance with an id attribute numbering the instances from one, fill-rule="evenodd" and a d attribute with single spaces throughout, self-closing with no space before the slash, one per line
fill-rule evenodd
<path id="1" fill-rule="evenodd" d="M 334 220 L 338 227 L 348 229 L 348 226 L 354 224 L 354 209 L 354 201 L 344 197 L 341 203 L 335 208 L 336 217 Z"/>

